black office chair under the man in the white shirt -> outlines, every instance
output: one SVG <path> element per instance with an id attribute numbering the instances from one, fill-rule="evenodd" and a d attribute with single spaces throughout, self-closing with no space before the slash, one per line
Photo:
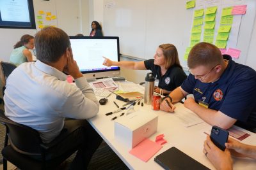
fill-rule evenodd
<path id="1" fill-rule="evenodd" d="M 19 169 L 56 169 L 77 150 L 77 148 L 72 148 L 72 150 L 60 157 L 46 159 L 47 150 L 56 147 L 65 136 L 60 134 L 51 143 L 42 143 L 38 131 L 26 125 L 13 122 L 5 117 L 3 110 L 0 110 L 0 122 L 6 127 L 4 148 L 2 150 L 3 170 L 7 170 L 7 161 L 19 167 Z M 8 145 L 8 140 L 10 145 Z M 33 159 L 29 156 L 35 156 L 38 159 Z"/>

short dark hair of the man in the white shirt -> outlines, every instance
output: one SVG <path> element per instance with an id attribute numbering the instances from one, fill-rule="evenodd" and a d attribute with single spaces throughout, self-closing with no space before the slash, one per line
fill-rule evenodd
<path id="1" fill-rule="evenodd" d="M 42 62 L 56 62 L 67 48 L 70 40 L 66 32 L 57 27 L 45 27 L 35 36 L 36 58 Z"/>

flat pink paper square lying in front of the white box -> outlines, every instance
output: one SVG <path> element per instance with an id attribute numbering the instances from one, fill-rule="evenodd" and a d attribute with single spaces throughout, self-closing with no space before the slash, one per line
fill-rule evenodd
<path id="1" fill-rule="evenodd" d="M 163 147 L 162 145 L 159 145 L 154 141 L 150 141 L 150 139 L 145 139 L 144 141 L 139 143 L 137 146 L 132 148 L 132 150 L 130 150 L 129 153 L 131 153 L 135 157 L 138 157 L 138 159 L 143 160 L 144 162 L 147 162 L 162 147 Z"/>

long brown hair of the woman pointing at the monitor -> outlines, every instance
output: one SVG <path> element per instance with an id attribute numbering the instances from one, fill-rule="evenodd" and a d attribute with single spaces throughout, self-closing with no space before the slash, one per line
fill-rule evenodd
<path id="1" fill-rule="evenodd" d="M 177 48 L 172 44 L 159 45 L 159 48 L 163 50 L 164 59 L 166 61 L 165 68 L 168 69 L 172 66 L 180 66 L 180 60 Z"/>

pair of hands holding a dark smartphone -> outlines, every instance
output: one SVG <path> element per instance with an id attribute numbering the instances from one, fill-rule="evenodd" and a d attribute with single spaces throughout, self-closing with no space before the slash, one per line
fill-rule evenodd
<path id="1" fill-rule="evenodd" d="M 218 170 L 233 169 L 231 155 L 236 157 L 249 157 L 256 159 L 256 146 L 246 145 L 232 138 L 228 138 L 228 142 L 225 143 L 225 146 L 225 151 L 220 150 L 220 148 L 212 143 L 210 136 L 207 136 L 204 142 L 203 152 L 205 153 L 205 156 L 211 161 L 213 166 Z"/>

